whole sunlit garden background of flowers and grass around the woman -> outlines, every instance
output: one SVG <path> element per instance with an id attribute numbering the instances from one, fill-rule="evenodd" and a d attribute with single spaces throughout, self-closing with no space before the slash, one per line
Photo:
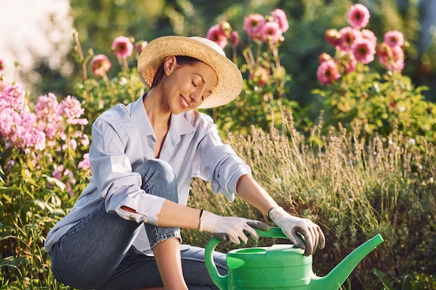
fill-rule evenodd
<path id="1" fill-rule="evenodd" d="M 350 21 L 356 3 L 371 15 L 360 26 Z M 3 5 L 3 19 L 8 5 L 17 8 Z M 327 247 L 313 256 L 315 273 L 326 275 L 380 233 L 384 243 L 342 289 L 436 289 L 435 0 L 70 0 L 56 1 L 59 13 L 54 7 L 39 31 L 50 50 L 23 40 L 15 55 L 0 55 L 0 289 L 68 289 L 50 273 L 45 236 L 91 175 L 93 120 L 146 90 L 137 56 L 162 35 L 221 41 L 240 67 L 240 97 L 204 112 L 279 204 L 322 227 Z M 264 22 L 276 23 L 266 38 L 253 33 Z M 13 38 L 3 39 L 4 50 Z M 120 54 L 125 45 L 130 53 Z M 270 223 L 201 180 L 192 195 L 192 207 Z M 182 234 L 194 245 L 210 239 Z"/>

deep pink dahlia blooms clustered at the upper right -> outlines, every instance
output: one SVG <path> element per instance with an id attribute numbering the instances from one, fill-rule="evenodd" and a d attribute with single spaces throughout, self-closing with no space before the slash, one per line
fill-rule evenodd
<path id="1" fill-rule="evenodd" d="M 323 53 L 317 77 L 323 85 L 332 85 L 341 78 L 341 74 L 352 72 L 357 63 L 367 65 L 379 57 L 380 63 L 388 70 L 401 72 L 404 67 L 403 34 L 389 31 L 384 35 L 384 42 L 377 45 L 373 31 L 364 29 L 370 19 L 368 8 L 355 4 L 348 11 L 348 24 L 341 30 L 328 29 L 325 39 L 335 47 L 336 55 L 331 57 Z"/>

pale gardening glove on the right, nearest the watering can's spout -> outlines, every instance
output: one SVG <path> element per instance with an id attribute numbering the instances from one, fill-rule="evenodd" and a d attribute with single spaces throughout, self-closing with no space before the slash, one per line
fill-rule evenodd
<path id="1" fill-rule="evenodd" d="M 268 216 L 294 245 L 304 250 L 305 256 L 313 255 L 316 248 L 324 248 L 325 236 L 320 227 L 311 220 L 291 216 L 282 207 L 270 209 Z"/>

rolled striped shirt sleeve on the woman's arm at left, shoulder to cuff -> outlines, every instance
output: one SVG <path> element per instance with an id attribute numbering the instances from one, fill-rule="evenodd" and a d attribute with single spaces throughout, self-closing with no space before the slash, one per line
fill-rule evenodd
<path id="1" fill-rule="evenodd" d="M 164 199 L 141 189 L 141 175 L 132 172 L 130 160 L 124 154 L 128 137 L 114 126 L 116 124 L 98 119 L 92 127 L 89 161 L 100 198 L 104 200 L 107 212 L 116 212 L 120 217 L 137 223 L 157 225 L 157 214 Z M 120 209 L 123 205 L 137 213 Z"/>

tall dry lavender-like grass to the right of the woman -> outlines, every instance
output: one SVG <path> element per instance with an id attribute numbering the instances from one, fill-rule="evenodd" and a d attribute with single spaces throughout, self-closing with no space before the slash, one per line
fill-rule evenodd
<path id="1" fill-rule="evenodd" d="M 407 287 L 416 284 L 411 280 L 414 273 L 432 280 L 435 144 L 419 138 L 412 142 L 396 129 L 387 138 L 361 137 L 358 126 L 348 132 L 340 124 L 323 136 L 322 122 L 304 136 L 295 129 L 290 113 L 283 111 L 281 119 L 280 129 L 265 132 L 253 127 L 248 136 L 229 134 L 226 141 L 281 206 L 322 227 L 327 245 L 313 256 L 314 271 L 326 275 L 358 245 L 380 233 L 384 243 L 357 266 L 343 289 L 382 289 L 374 269 L 384 273 L 395 289 L 412 289 Z M 222 196 L 213 196 L 201 180 L 194 181 L 192 195 L 193 207 L 267 221 L 240 199 L 228 204 Z M 185 232 L 186 242 L 205 245 L 207 239 Z"/>

